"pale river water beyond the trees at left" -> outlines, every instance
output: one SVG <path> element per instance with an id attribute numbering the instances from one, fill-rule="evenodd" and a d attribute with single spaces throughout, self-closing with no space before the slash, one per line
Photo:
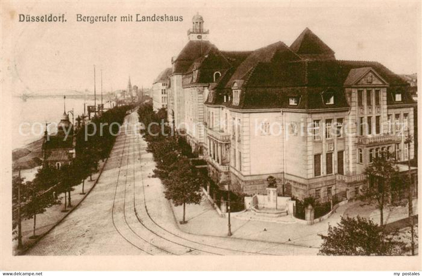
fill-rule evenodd
<path id="1" fill-rule="evenodd" d="M 94 105 L 94 96 L 66 96 L 66 111 L 72 110 L 75 122 L 78 115 L 84 113 L 86 106 Z M 64 106 L 63 96 L 31 96 L 26 101 L 13 97 L 12 111 L 12 147 L 23 147 L 43 136 L 46 121 L 52 123 L 49 133 L 56 131 L 55 125 L 62 118 Z M 108 107 L 104 101 L 104 107 Z M 100 98 L 97 96 L 97 104 Z M 72 115 L 69 114 L 70 122 Z"/>

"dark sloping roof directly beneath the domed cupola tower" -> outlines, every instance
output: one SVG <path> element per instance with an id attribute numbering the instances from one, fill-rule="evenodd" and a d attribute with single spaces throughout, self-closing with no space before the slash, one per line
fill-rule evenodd
<path id="1" fill-rule="evenodd" d="M 203 56 L 211 48 L 216 47 L 206 40 L 189 41 L 179 53 L 179 56 L 173 60 L 173 74 L 185 73 L 196 59 Z"/>

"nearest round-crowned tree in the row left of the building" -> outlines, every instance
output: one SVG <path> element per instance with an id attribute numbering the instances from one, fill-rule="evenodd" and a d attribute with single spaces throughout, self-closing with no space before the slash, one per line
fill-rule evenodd
<path id="1" fill-rule="evenodd" d="M 201 175 L 195 170 L 186 157 L 177 162 L 177 170 L 169 173 L 168 179 L 163 180 L 165 185 L 165 198 L 173 201 L 175 206 L 183 205 L 182 224 L 186 223 L 186 204 L 200 204 Z"/>

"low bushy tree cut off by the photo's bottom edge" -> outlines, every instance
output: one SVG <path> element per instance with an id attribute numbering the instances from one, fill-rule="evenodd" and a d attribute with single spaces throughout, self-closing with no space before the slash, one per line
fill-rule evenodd
<path id="1" fill-rule="evenodd" d="M 402 244 L 372 220 L 359 216 L 341 217 L 337 226 L 328 226 L 327 236 L 318 236 L 323 240 L 319 255 L 395 255 Z"/>

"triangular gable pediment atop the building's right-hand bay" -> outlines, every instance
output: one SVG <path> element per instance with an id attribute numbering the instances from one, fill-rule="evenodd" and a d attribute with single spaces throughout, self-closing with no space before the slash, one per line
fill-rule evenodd
<path id="1" fill-rule="evenodd" d="M 371 67 L 354 68 L 344 86 L 388 86 L 388 83 Z"/>

